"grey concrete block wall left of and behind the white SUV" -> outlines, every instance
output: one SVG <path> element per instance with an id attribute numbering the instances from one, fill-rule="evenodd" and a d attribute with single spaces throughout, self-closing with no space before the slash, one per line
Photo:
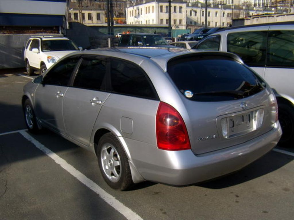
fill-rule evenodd
<path id="1" fill-rule="evenodd" d="M 0 69 L 25 67 L 26 42 L 36 35 L 42 34 L 0 34 Z"/>

